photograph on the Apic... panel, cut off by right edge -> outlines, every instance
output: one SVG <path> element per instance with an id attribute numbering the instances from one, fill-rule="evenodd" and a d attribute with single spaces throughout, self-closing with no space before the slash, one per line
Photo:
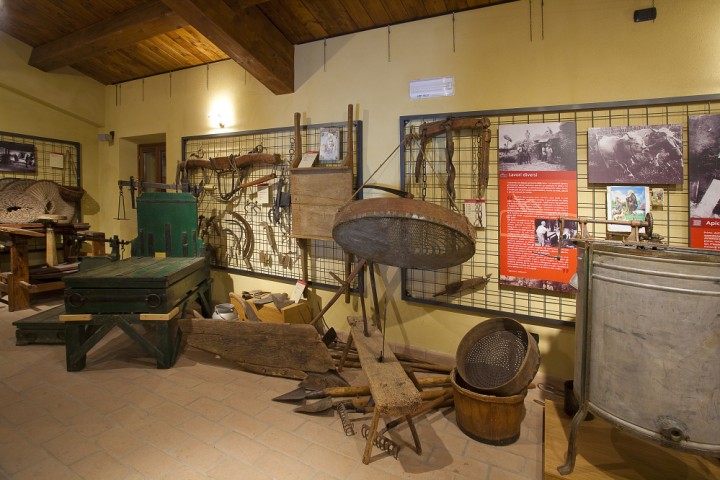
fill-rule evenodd
<path id="1" fill-rule="evenodd" d="M 720 217 L 720 115 L 688 117 L 690 217 Z"/>

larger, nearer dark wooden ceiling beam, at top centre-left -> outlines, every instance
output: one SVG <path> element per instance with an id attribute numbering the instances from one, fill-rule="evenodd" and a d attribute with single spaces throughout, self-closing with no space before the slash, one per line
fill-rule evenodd
<path id="1" fill-rule="evenodd" d="M 295 47 L 257 7 L 218 0 L 163 0 L 276 95 L 295 91 Z"/>

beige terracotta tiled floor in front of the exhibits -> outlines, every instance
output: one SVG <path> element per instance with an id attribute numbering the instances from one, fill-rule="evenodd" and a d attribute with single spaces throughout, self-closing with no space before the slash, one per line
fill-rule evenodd
<path id="1" fill-rule="evenodd" d="M 48 304 L 57 301 L 47 302 Z M 496 447 L 464 435 L 453 409 L 432 410 L 391 431 L 398 459 L 377 448 L 362 463 L 360 425 L 346 436 L 336 414 L 293 412 L 271 399 L 297 381 L 244 372 L 186 349 L 158 370 L 115 332 L 65 370 L 62 345 L 15 345 L 12 322 L 47 305 L 8 312 L 0 305 L 0 478 L 84 479 L 373 479 L 513 480 L 542 478 L 543 394 L 529 391 L 520 439 Z M 359 370 L 347 370 L 357 383 Z"/>

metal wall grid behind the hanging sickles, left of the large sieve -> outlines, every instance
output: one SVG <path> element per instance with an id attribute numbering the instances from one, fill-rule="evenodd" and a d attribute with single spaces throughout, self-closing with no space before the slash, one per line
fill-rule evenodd
<path id="1" fill-rule="evenodd" d="M 319 151 L 323 129 L 337 128 L 341 146 L 339 159 L 324 160 L 324 167 L 340 165 L 347 149 L 347 124 L 327 123 L 301 127 L 302 152 Z M 362 122 L 353 123 L 354 182 L 361 175 Z M 259 276 L 277 280 L 294 281 L 302 278 L 301 250 L 295 238 L 290 237 L 292 207 L 275 208 L 275 190 L 282 179 L 283 191 L 290 191 L 289 168 L 295 156 L 294 129 L 276 128 L 249 132 L 234 132 L 183 138 L 183 158 L 215 158 L 241 155 L 261 150 L 263 153 L 279 154 L 279 165 L 255 164 L 240 179 L 232 172 L 218 175 L 210 169 L 192 169 L 189 182 L 202 185 L 198 197 L 198 217 L 203 239 L 213 247 L 212 264 L 241 275 Z M 312 168 L 312 167 L 310 167 Z M 254 185 L 238 190 L 232 195 L 233 184 L 248 183 L 275 175 L 267 183 L 270 186 L 268 202 L 264 202 L 262 190 L 266 185 Z M 289 195 L 289 193 L 288 193 Z M 349 200 L 349 199 L 348 199 Z M 247 222 L 240 221 L 238 215 Z M 208 219 L 217 219 L 216 228 L 205 228 Z M 202 220 L 202 221 L 201 221 Z M 247 258 L 241 252 L 247 247 L 248 229 L 252 235 L 252 251 Z M 334 288 L 337 282 L 331 274 L 344 276 L 344 254 L 340 246 L 331 241 L 305 240 L 308 245 L 308 279 L 317 287 Z M 273 247 L 273 244 L 275 247 Z M 357 282 L 353 283 L 357 288 Z"/>

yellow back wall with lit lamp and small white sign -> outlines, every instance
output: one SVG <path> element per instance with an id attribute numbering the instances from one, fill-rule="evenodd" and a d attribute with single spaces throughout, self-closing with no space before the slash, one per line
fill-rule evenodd
<path id="1" fill-rule="evenodd" d="M 346 106 L 353 104 L 364 126 L 363 171 L 372 172 L 397 146 L 402 115 L 615 102 L 720 90 L 720 29 L 715 24 L 720 2 L 655 0 L 657 20 L 638 24 L 632 20 L 633 11 L 648 7 L 647 0 L 544 3 L 541 12 L 541 2 L 532 2 L 532 25 L 531 3 L 521 0 L 456 14 L 454 35 L 452 17 L 443 16 L 393 26 L 389 35 L 387 29 L 377 29 L 329 39 L 326 44 L 297 46 L 296 92 L 290 95 L 271 94 L 231 61 L 106 87 L 102 129 L 115 130 L 118 139 L 97 149 L 96 171 L 102 176 L 98 175 L 97 185 L 86 183 L 100 206 L 93 228 L 132 238 L 134 222 L 112 220 L 117 209 L 115 182 L 136 174 L 134 146 L 138 137 L 146 135 L 165 136 L 168 177 L 173 178 L 183 136 L 287 127 L 296 111 L 303 114 L 304 123 L 338 122 L 344 120 Z M 0 40 L 6 43 L 3 37 Z M 455 96 L 409 99 L 410 80 L 446 75 L 455 77 Z M 50 81 L 55 75 L 41 78 Z M 208 120 L 218 98 L 224 99 L 222 104 L 233 117 L 224 130 L 213 129 Z M 63 132 L 61 126 L 57 128 Z M 399 184 L 397 154 L 373 180 Z M 227 301 L 227 292 L 232 290 L 289 292 L 292 287 L 222 273 L 216 277 L 216 301 Z M 388 340 L 454 354 L 460 338 L 481 319 L 403 302 L 399 277 L 397 269 L 382 268 Z M 318 293 L 324 302 L 332 294 Z M 345 317 L 356 312 L 356 302 L 338 302 L 326 319 L 346 330 Z M 529 329 L 541 336 L 541 370 L 571 378 L 573 330 L 535 325 Z"/>

